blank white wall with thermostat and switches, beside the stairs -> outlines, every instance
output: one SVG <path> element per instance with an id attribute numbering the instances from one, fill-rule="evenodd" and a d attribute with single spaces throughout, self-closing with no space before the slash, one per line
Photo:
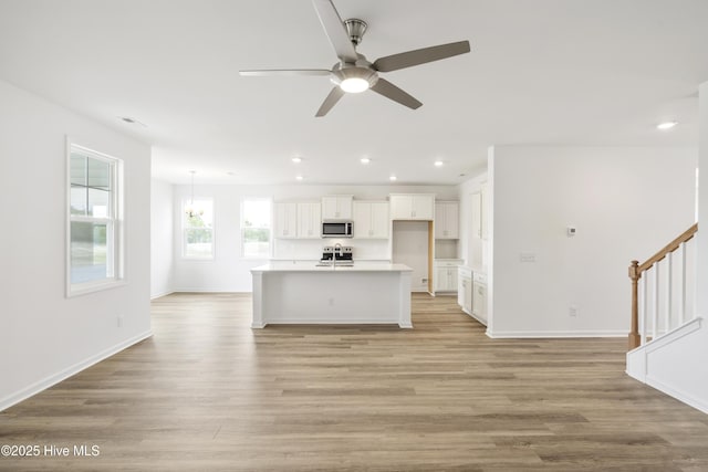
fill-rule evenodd
<path id="1" fill-rule="evenodd" d="M 488 333 L 626 335 L 627 266 L 693 224 L 697 157 L 690 148 L 496 147 Z"/>

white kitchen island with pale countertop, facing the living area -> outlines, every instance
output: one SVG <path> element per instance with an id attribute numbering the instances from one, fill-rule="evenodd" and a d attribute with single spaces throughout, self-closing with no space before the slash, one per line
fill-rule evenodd
<path id="1" fill-rule="evenodd" d="M 404 264 L 271 262 L 251 270 L 252 328 L 268 324 L 397 324 L 412 328 Z"/>

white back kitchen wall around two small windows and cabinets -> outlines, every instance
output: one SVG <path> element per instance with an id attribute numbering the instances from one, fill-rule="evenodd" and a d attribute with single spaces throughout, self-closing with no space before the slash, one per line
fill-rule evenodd
<path id="1" fill-rule="evenodd" d="M 319 201 L 325 195 L 353 195 L 357 200 L 385 200 L 389 193 L 436 193 L 438 199 L 457 199 L 456 186 L 200 186 L 197 174 L 195 199 L 214 198 L 215 244 L 212 261 L 194 261 L 181 258 L 179 224 L 180 202 L 189 198 L 189 186 L 175 186 L 174 191 L 174 271 L 173 289 L 176 292 L 250 292 L 252 268 L 264 261 L 244 260 L 240 255 L 240 207 L 244 198 L 266 197 L 274 201 Z M 275 241 L 278 258 L 317 260 L 322 247 L 332 240 Z M 387 259 L 387 241 L 345 240 L 354 248 L 355 258 Z"/>

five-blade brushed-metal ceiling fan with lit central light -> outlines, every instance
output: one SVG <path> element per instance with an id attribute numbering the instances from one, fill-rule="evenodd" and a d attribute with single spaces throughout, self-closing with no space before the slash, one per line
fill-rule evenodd
<path id="1" fill-rule="evenodd" d="M 470 51 L 469 41 L 440 44 L 407 51 L 399 54 L 379 57 L 368 62 L 363 54 L 356 52 L 367 24 L 363 20 L 348 19 L 342 21 L 332 0 L 312 0 L 320 22 L 324 28 L 340 62 L 327 69 L 261 70 L 239 71 L 241 75 L 329 75 L 335 84 L 317 109 L 315 116 L 324 116 L 346 93 L 360 93 L 368 88 L 387 98 L 416 109 L 423 103 L 382 78 L 379 72 L 398 71 L 399 69 L 425 64 L 441 59 L 465 54 Z"/>

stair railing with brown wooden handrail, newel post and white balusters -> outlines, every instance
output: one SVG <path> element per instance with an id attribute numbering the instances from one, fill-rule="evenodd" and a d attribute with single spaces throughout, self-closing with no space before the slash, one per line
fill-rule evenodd
<path id="1" fill-rule="evenodd" d="M 686 243 L 694 238 L 697 231 L 698 223 L 695 223 L 644 263 L 639 264 L 639 261 L 632 261 L 629 264 L 629 279 L 632 280 L 632 331 L 628 339 L 629 350 L 645 344 L 649 338 L 656 338 L 660 334 L 662 324 L 665 331 L 669 331 L 671 328 L 671 315 L 674 312 L 678 312 L 676 323 L 683 324 L 688 321 L 686 319 Z M 674 253 L 678 250 L 680 250 L 678 254 L 679 261 L 678 266 L 675 268 L 673 259 Z M 659 262 L 663 260 L 666 261 L 662 264 L 663 268 L 659 268 Z M 652 286 L 648 285 L 648 276 L 642 277 L 642 275 L 648 273 L 649 270 L 653 272 L 653 276 L 650 277 L 653 282 Z M 666 282 L 664 284 L 664 291 L 659 289 L 660 274 L 663 272 L 666 272 L 664 276 Z M 678 273 L 677 281 L 674 281 L 675 273 Z M 642 281 L 642 297 L 639 297 L 639 281 Z M 675 292 L 678 292 L 677 300 L 674 300 Z M 664 294 L 663 297 L 659 296 L 662 293 Z M 648 303 L 649 297 L 652 298 L 652 303 Z M 664 302 L 664 306 L 659 305 L 660 301 Z M 674 306 L 675 304 L 678 304 L 678 306 Z M 650 333 L 648 319 L 649 307 L 652 308 Z M 662 314 L 664 315 L 663 319 L 659 319 Z"/>

